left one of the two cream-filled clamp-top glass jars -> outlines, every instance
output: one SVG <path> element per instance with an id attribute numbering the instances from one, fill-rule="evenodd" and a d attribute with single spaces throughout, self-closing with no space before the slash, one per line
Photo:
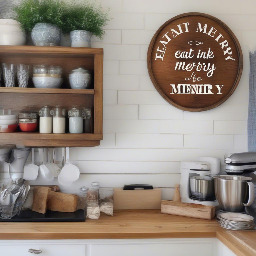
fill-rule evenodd
<path id="1" fill-rule="evenodd" d="M 52 116 L 50 114 L 50 107 L 42 107 L 38 115 L 39 118 L 39 132 L 40 133 L 52 133 Z"/>

